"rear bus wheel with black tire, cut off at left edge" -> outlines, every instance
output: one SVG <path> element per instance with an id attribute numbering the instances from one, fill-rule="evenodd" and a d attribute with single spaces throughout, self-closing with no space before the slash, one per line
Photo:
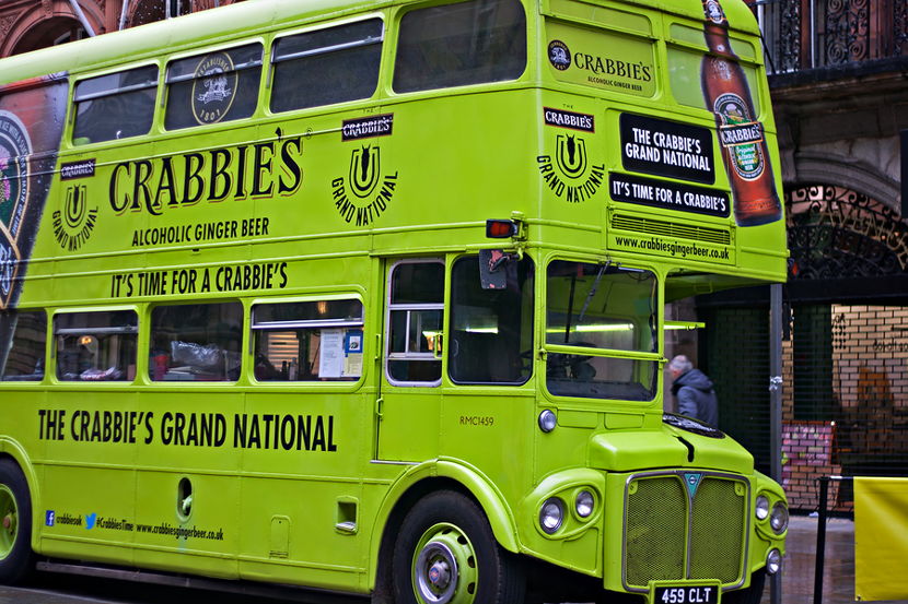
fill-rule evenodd
<path id="1" fill-rule="evenodd" d="M 19 466 L 0 460 L 0 583 L 21 582 L 34 568 L 32 500 Z"/>

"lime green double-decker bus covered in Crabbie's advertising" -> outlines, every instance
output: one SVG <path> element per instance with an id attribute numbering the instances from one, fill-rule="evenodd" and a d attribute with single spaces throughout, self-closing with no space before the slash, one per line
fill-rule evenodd
<path id="1" fill-rule="evenodd" d="M 0 580 L 758 602 L 784 494 L 662 370 L 785 277 L 761 57 L 740 0 L 251 0 L 1 61 Z"/>

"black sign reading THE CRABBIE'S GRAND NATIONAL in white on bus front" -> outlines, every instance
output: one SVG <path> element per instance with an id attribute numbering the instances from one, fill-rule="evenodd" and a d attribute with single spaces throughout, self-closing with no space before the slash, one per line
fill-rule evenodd
<path id="1" fill-rule="evenodd" d="M 621 114 L 621 165 L 626 170 L 712 185 L 715 166 L 708 128 Z"/>

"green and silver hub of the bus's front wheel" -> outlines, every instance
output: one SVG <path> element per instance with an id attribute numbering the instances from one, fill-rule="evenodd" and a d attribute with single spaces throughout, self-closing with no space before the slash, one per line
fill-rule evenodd
<path id="1" fill-rule="evenodd" d="M 470 604 L 479 573 L 476 553 L 454 524 L 435 524 L 422 533 L 412 561 L 414 592 L 421 604 Z"/>

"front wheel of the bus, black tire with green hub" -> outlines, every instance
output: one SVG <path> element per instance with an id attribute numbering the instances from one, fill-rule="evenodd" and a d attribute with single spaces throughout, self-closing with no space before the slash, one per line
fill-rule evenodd
<path id="1" fill-rule="evenodd" d="M 523 604 L 520 561 L 494 540 L 482 510 L 453 490 L 410 510 L 394 545 L 396 604 Z"/>

